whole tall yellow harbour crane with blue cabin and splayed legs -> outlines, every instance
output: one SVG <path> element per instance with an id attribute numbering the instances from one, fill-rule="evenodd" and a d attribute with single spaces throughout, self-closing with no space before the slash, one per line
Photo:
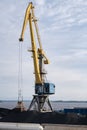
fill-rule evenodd
<path id="1" fill-rule="evenodd" d="M 22 32 L 19 41 L 24 40 L 24 32 L 28 22 L 29 22 L 31 46 L 32 46 L 32 49 L 30 51 L 32 52 L 33 55 L 34 72 L 35 72 L 35 95 L 33 95 L 33 100 L 31 101 L 29 110 L 32 109 L 35 105 L 37 105 L 36 107 L 37 111 L 40 112 L 43 112 L 44 110 L 47 111 L 47 109 L 44 109 L 44 105 L 45 103 L 47 103 L 50 108 L 50 111 L 52 111 L 52 107 L 48 97 L 49 95 L 55 93 L 55 85 L 53 83 L 47 82 L 46 80 L 46 71 L 44 69 L 44 64 L 49 64 L 49 60 L 46 57 L 42 48 L 40 35 L 38 32 L 37 20 L 34 14 L 34 6 L 32 2 L 29 3 L 26 9 Z M 39 48 L 37 48 L 36 46 L 33 26 L 35 27 L 36 30 Z"/>

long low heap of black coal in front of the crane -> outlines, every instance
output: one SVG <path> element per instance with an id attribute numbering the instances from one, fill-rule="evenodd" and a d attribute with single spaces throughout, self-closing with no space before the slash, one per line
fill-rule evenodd
<path id="1" fill-rule="evenodd" d="M 75 113 L 40 113 L 37 111 L 21 112 L 18 109 L 0 109 L 0 116 L 0 122 L 87 125 L 87 115 L 78 115 Z"/>

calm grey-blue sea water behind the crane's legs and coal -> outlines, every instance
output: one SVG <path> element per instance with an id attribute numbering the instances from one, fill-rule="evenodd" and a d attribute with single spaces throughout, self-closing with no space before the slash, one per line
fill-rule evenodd
<path id="1" fill-rule="evenodd" d="M 24 106 L 28 109 L 31 101 L 24 101 Z M 86 101 L 51 101 L 53 110 L 63 110 L 64 108 L 87 108 Z M 13 109 L 17 106 L 17 101 L 0 101 L 0 108 Z"/>

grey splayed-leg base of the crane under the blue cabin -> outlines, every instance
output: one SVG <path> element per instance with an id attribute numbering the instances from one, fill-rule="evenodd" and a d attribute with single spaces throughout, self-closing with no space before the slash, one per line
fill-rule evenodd
<path id="1" fill-rule="evenodd" d="M 36 110 L 38 112 L 53 111 L 48 95 L 33 95 L 33 99 L 28 110 Z"/>

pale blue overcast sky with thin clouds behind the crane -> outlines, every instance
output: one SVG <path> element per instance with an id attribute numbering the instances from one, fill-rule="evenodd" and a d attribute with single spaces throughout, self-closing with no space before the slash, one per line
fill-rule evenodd
<path id="1" fill-rule="evenodd" d="M 18 99 L 19 37 L 30 0 L 0 1 L 0 100 Z M 50 60 L 52 100 L 87 100 L 87 0 L 33 0 L 43 49 Z M 23 53 L 23 98 L 34 94 L 30 33 Z"/>

